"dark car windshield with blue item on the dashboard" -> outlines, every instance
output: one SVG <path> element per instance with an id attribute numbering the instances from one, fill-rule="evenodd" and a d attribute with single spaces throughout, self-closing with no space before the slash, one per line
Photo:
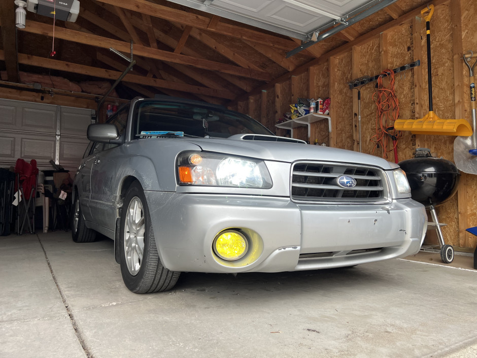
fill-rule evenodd
<path id="1" fill-rule="evenodd" d="M 134 138 L 152 132 L 183 132 L 184 136 L 227 138 L 235 134 L 274 135 L 256 120 L 225 108 L 146 100 L 134 111 Z"/>

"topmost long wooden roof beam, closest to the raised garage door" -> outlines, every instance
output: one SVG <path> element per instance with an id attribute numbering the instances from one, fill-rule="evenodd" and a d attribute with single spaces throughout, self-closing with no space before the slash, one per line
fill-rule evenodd
<path id="1" fill-rule="evenodd" d="M 290 40 L 220 21 L 217 22 L 215 28 L 208 28 L 212 21 L 209 17 L 154 4 L 147 0 L 97 0 L 97 2 L 137 11 L 142 14 L 148 14 L 171 22 L 179 22 L 184 25 L 204 30 L 208 29 L 232 38 L 258 42 L 282 50 L 291 51 L 296 47 Z"/>

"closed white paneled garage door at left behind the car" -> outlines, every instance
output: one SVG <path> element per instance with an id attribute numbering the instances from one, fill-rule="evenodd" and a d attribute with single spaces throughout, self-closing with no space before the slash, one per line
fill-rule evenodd
<path id="1" fill-rule="evenodd" d="M 88 145 L 92 110 L 0 99 L 0 166 L 36 159 L 40 169 L 53 160 L 76 171 Z"/>

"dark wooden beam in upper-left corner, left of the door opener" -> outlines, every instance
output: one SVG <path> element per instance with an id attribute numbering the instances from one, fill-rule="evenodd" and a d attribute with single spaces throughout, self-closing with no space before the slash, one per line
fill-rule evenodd
<path id="1" fill-rule="evenodd" d="M 11 0 L 0 0 L 0 23 L 2 24 L 2 44 L 6 54 L 7 77 L 9 82 L 19 83 L 15 7 Z"/>

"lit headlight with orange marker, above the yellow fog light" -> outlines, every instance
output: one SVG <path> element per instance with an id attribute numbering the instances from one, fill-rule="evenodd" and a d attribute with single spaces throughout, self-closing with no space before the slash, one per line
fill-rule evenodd
<path id="1" fill-rule="evenodd" d="M 261 160 L 226 154 L 182 153 L 177 159 L 179 184 L 269 189 L 271 177 Z"/>

